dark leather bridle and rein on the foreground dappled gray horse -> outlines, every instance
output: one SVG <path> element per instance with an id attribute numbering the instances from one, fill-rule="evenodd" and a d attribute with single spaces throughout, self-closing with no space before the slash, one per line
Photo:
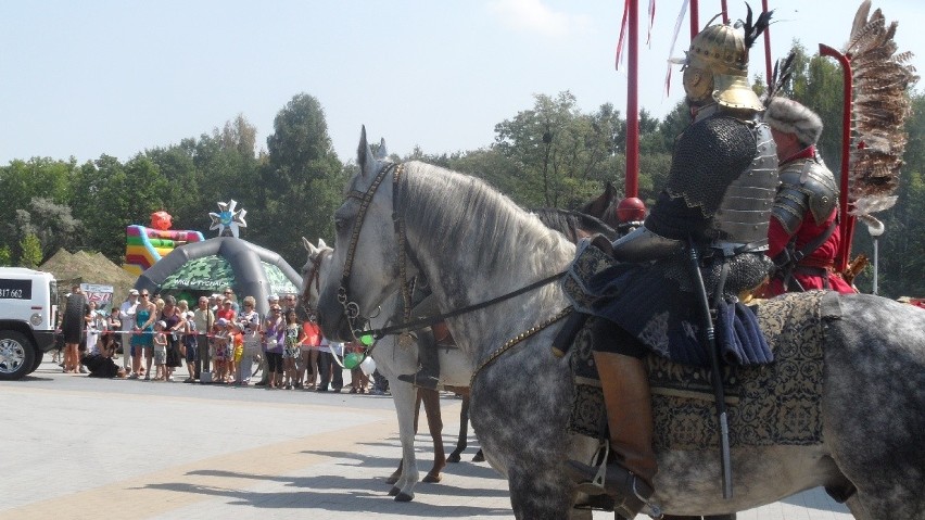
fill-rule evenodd
<path id="1" fill-rule="evenodd" d="M 445 321 L 447 318 L 453 318 L 456 316 L 460 316 L 464 314 L 471 313 L 473 310 L 479 310 L 497 303 L 504 302 L 505 300 L 509 300 L 515 296 L 519 296 L 527 292 L 533 291 L 534 289 L 538 289 L 543 286 L 552 283 L 562 276 L 565 276 L 566 271 L 557 272 L 553 276 L 543 278 L 537 280 L 529 286 L 517 289 L 507 294 L 503 294 L 500 296 L 494 297 L 492 300 L 487 300 L 484 302 L 480 302 L 477 304 L 468 305 L 466 307 L 457 308 L 455 310 L 451 310 L 445 314 L 438 314 L 434 316 L 422 316 L 420 318 L 416 318 L 414 320 L 410 319 L 411 313 L 411 290 L 413 284 L 408 282 L 407 279 L 407 254 L 406 254 L 406 236 L 405 236 L 405 220 L 402 215 L 398 213 L 398 188 L 400 181 L 402 177 L 402 173 L 404 172 L 404 164 L 394 164 L 388 163 L 385 164 L 379 173 L 376 175 L 376 178 L 372 179 L 372 183 L 369 185 L 369 188 L 366 192 L 359 191 L 351 191 L 347 193 L 347 199 L 357 199 L 359 200 L 359 210 L 357 211 L 356 220 L 353 226 L 353 231 L 351 233 L 351 240 L 347 244 L 347 253 L 346 258 L 344 261 L 344 269 L 343 275 L 341 277 L 341 284 L 338 288 L 338 301 L 344 308 L 344 316 L 347 318 L 347 322 L 351 328 L 351 332 L 354 339 L 359 342 L 359 338 L 363 335 L 370 334 L 373 340 L 380 340 L 389 334 L 400 334 L 405 332 L 410 332 L 413 330 L 419 330 L 427 327 L 431 327 L 433 325 Z M 403 322 L 398 325 L 394 325 L 391 327 L 383 327 L 380 329 L 368 329 L 369 319 L 367 317 L 360 316 L 359 314 L 359 305 L 350 299 L 350 294 L 347 292 L 347 288 L 350 287 L 350 276 L 353 269 L 353 263 L 356 257 L 356 249 L 359 243 L 359 232 L 363 227 L 363 221 L 366 217 L 366 212 L 369 208 L 369 204 L 372 202 L 372 198 L 376 195 L 376 191 L 379 189 L 379 186 L 382 183 L 382 180 L 392 173 L 392 221 L 395 227 L 395 234 L 397 236 L 398 241 L 398 270 L 400 276 L 402 278 L 402 302 L 403 302 Z M 320 255 L 318 255 L 320 257 Z M 316 268 L 317 270 L 317 268 Z M 367 348 L 370 351 L 371 346 Z"/>

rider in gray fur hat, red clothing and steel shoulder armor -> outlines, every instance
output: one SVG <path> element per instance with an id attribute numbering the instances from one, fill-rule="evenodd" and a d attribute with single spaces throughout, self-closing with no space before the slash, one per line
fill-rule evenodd
<path id="1" fill-rule="evenodd" d="M 822 119 L 794 100 L 773 97 L 764 122 L 777 144 L 781 186 L 768 229 L 768 256 L 775 269 L 762 295 L 812 289 L 857 292 L 835 272 L 841 243 L 838 183 L 815 149 Z"/>

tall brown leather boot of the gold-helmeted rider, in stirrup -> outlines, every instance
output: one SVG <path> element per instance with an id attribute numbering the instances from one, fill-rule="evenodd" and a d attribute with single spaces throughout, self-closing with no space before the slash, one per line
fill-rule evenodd
<path id="1" fill-rule="evenodd" d="M 608 464 L 603 482 L 595 482 L 598 467 L 570 460 L 579 491 L 616 498 L 614 512 L 633 518 L 651 496 L 658 468 L 652 451 L 652 410 L 649 379 L 642 359 L 609 352 L 595 352 L 594 363 L 604 389 L 610 449 L 617 461 Z"/>

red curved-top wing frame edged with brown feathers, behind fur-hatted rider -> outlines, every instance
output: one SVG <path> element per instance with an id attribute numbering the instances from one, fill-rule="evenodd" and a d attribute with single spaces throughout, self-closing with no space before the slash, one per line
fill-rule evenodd
<path id="1" fill-rule="evenodd" d="M 832 56 L 841 65 L 842 77 L 842 107 L 841 107 L 841 183 L 838 194 L 839 231 L 841 232 L 841 244 L 835 256 L 835 270 L 844 272 L 848 268 L 848 257 L 851 256 L 851 239 L 854 237 L 854 217 L 848 215 L 848 158 L 851 152 L 851 103 L 852 103 L 852 79 L 851 61 L 837 50 L 819 45 L 819 53 L 823 56 Z"/>

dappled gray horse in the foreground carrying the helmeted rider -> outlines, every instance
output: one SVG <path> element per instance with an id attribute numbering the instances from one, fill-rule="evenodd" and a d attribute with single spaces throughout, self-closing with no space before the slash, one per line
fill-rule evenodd
<path id="1" fill-rule="evenodd" d="M 407 276 L 431 280 L 446 313 L 555 276 L 574 257 L 562 234 L 479 179 L 377 160 L 365 129 L 357 164 L 334 214 L 334 268 L 318 304 L 326 335 L 352 338 Z M 735 493 L 727 500 L 712 442 L 657 449 L 652 500 L 664 512 L 722 515 L 826 486 L 845 492 L 858 519 L 925 518 L 925 313 L 870 295 L 832 299 L 841 318 L 825 321 L 818 342 L 824 347 L 819 439 L 733 444 Z M 520 519 L 568 518 L 582 497 L 565 464 L 587 460 L 597 447 L 568 433 L 572 377 L 568 363 L 549 354 L 567 305 L 560 286 L 546 283 L 447 321 L 476 366 L 473 426 L 486 459 L 508 479 Z M 776 364 L 740 376 L 786 382 L 793 373 L 777 370 L 786 362 L 777 356 Z M 777 391 L 769 388 L 762 397 L 783 398 Z M 743 428 L 735 417 L 730 422 L 733 431 Z"/>

